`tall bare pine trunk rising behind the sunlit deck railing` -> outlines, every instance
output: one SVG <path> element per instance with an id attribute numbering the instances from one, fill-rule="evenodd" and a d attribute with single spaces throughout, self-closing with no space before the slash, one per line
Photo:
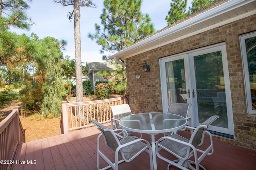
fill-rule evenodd
<path id="1" fill-rule="evenodd" d="M 79 0 L 74 0 L 74 36 L 76 65 L 76 102 L 83 102 Z"/>

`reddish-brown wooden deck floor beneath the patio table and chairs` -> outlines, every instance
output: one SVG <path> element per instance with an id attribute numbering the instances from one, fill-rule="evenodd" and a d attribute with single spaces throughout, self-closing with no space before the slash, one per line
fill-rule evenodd
<path id="1" fill-rule="evenodd" d="M 68 134 L 23 143 L 18 147 L 11 169 L 96 170 L 96 147 L 99 133 L 97 127 L 90 127 Z M 149 135 L 143 134 L 142 137 L 150 140 Z M 206 141 L 209 140 L 206 139 Z M 106 148 L 103 139 L 101 146 L 106 154 L 113 155 L 113 152 Z M 166 154 L 168 153 L 166 152 Z M 214 141 L 214 153 L 206 156 L 201 164 L 207 170 L 254 170 L 256 151 Z M 106 165 L 107 163 L 101 159 L 100 166 Z M 167 163 L 159 158 L 157 158 L 157 165 L 158 170 L 167 168 Z M 131 162 L 120 164 L 118 168 L 120 170 L 148 170 L 150 169 L 148 153 L 143 152 Z M 171 167 L 170 169 L 175 170 L 177 168 Z"/>

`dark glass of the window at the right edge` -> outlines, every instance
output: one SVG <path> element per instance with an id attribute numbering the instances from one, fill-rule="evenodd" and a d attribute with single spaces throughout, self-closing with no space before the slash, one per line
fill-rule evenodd
<path id="1" fill-rule="evenodd" d="M 249 90 L 252 100 L 252 110 L 256 110 L 256 37 L 245 39 L 245 45 L 250 80 Z"/>

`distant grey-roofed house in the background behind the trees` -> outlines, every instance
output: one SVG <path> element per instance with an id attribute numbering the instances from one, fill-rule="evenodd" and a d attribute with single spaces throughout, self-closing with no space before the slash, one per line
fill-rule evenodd
<path id="1" fill-rule="evenodd" d="M 108 81 L 108 79 L 103 78 L 98 75 L 98 71 L 102 70 L 116 70 L 114 64 L 105 63 L 105 62 L 86 62 L 86 68 L 89 74 L 89 80 L 92 82 L 93 91 L 95 91 L 95 83 L 98 81 Z"/>

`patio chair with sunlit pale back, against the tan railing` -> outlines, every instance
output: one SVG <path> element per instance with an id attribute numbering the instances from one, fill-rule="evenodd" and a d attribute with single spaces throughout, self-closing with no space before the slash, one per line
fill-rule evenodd
<path id="1" fill-rule="evenodd" d="M 126 117 L 128 115 L 132 114 L 132 111 L 130 109 L 130 106 L 128 104 L 121 104 L 121 105 L 116 105 L 116 106 L 110 106 L 112 113 L 113 113 L 113 118 L 111 119 L 111 129 L 122 129 L 120 126 L 120 119 L 123 117 Z M 113 124 L 114 122 L 114 124 Z M 125 130 L 126 131 L 126 130 Z M 132 131 L 127 131 L 128 135 L 132 135 L 134 132 Z M 120 136 L 121 137 L 121 136 Z M 135 136 L 133 136 L 135 137 Z M 142 134 L 140 133 L 140 138 L 142 137 Z M 136 137 L 138 138 L 138 137 Z"/>

